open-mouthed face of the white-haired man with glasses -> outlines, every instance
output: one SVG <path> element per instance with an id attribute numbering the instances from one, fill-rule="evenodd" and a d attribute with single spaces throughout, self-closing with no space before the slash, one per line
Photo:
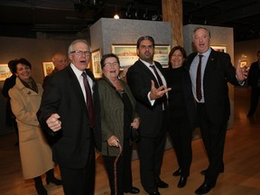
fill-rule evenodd
<path id="1" fill-rule="evenodd" d="M 88 62 L 90 60 L 90 52 L 88 45 L 86 44 L 86 42 L 75 42 L 72 45 L 72 48 L 73 51 L 69 53 L 69 58 L 71 62 L 78 70 L 86 70 L 88 67 Z"/>

